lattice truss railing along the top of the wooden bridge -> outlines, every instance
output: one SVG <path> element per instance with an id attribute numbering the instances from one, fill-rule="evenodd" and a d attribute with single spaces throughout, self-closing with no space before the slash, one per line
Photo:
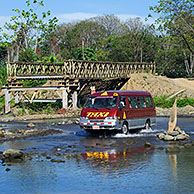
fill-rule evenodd
<path id="1" fill-rule="evenodd" d="M 7 64 L 12 79 L 99 79 L 128 78 L 131 73 L 155 71 L 155 63 L 66 60 L 64 63 L 12 62 Z"/>

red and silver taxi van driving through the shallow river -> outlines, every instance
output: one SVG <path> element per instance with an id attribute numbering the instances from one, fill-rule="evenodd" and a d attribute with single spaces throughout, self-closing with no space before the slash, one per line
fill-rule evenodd
<path id="1" fill-rule="evenodd" d="M 148 128 L 156 124 L 153 98 L 145 91 L 103 91 L 87 99 L 80 117 L 80 127 L 94 130 Z"/>

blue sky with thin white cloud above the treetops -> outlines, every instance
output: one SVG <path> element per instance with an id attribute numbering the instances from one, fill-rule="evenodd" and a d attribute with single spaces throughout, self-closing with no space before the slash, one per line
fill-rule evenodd
<path id="1" fill-rule="evenodd" d="M 14 15 L 13 8 L 25 9 L 26 0 L 0 0 L 0 26 Z M 60 23 L 80 21 L 98 15 L 114 14 L 121 20 L 144 18 L 150 13 L 149 6 L 158 0 L 44 0 L 39 11 L 50 10 Z"/>

